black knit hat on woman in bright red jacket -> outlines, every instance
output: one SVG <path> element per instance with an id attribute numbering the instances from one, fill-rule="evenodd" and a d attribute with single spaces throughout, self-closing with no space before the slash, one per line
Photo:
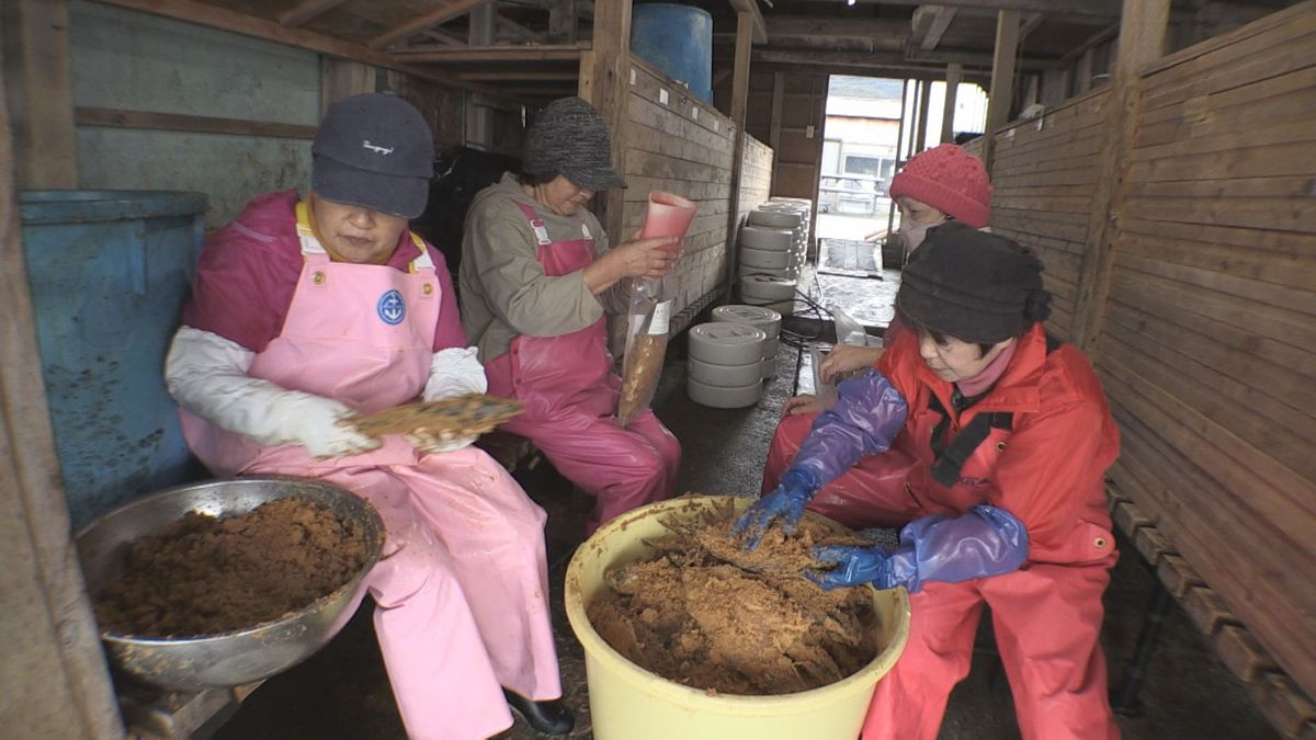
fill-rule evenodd
<path id="1" fill-rule="evenodd" d="M 957 221 L 928 230 L 900 275 L 896 309 L 928 329 L 995 344 L 1050 315 L 1033 250 Z"/>

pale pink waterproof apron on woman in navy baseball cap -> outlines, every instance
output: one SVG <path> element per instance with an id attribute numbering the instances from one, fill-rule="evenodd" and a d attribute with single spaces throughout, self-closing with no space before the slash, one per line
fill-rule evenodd
<path id="1" fill-rule="evenodd" d="M 250 374 L 375 411 L 415 399 L 429 375 L 440 283 L 424 241 L 408 273 L 332 262 L 297 205 L 305 266 L 279 337 Z M 512 724 L 500 686 L 561 697 L 549 621 L 544 510 L 474 446 L 417 453 L 400 436 L 328 461 L 262 448 L 195 416 L 183 427 L 217 475 L 287 474 L 343 486 L 388 531 L 367 583 L 375 632 L 411 737 L 472 740 Z"/>

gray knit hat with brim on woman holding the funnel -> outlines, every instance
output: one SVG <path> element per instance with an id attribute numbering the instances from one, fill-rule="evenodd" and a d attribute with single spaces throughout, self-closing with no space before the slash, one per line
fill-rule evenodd
<path id="1" fill-rule="evenodd" d="M 590 190 L 626 187 L 612 169 L 612 137 L 603 116 L 579 97 L 544 107 L 525 136 L 525 174 L 541 180 L 566 176 Z"/>

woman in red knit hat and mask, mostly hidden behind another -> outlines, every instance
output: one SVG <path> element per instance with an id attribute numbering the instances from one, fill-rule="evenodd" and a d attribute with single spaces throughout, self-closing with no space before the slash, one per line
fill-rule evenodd
<path id="1" fill-rule="evenodd" d="M 954 144 L 942 144 L 915 154 L 892 178 L 891 198 L 900 208 L 898 237 L 904 242 L 907 259 L 933 226 L 958 221 L 980 229 L 991 220 L 991 180 L 987 178 L 987 169 L 980 159 Z M 899 320 L 894 320 L 883 345 L 890 346 L 899 332 Z M 819 365 L 819 374 L 822 382 L 833 383 L 850 373 L 875 367 L 882 349 L 837 345 Z M 765 494 L 776 487 L 786 465 L 800 449 L 820 411 L 822 404 L 813 395 L 787 399 L 763 469 Z M 901 474 L 890 467 L 883 470 L 891 475 Z"/>

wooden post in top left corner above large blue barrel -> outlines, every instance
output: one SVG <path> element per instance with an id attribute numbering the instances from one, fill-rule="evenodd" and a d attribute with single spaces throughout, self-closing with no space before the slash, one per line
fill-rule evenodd
<path id="1" fill-rule="evenodd" d="M 68 4 L 7 0 L 0 26 L 18 188 L 78 187 Z"/>

